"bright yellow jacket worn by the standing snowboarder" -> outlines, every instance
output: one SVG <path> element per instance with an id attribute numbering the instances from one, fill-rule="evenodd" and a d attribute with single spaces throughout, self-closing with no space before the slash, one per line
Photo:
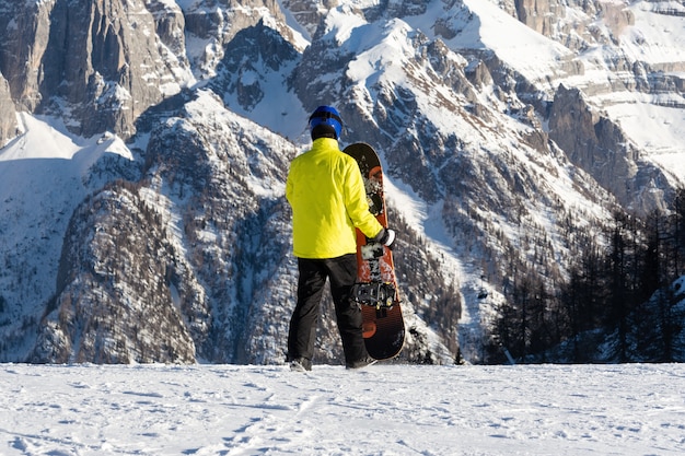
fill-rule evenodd
<path id="1" fill-rule="evenodd" d="M 314 140 L 290 163 L 286 198 L 292 207 L 293 253 L 299 258 L 336 258 L 357 252 L 355 227 L 375 237 L 383 226 L 369 212 L 355 159 L 338 141 Z"/>

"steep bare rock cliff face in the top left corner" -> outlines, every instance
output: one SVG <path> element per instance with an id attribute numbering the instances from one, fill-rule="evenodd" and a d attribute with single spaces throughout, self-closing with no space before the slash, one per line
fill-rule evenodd
<path id="1" fill-rule="evenodd" d="M 147 108 L 191 81 L 174 3 L 7 3 L 0 69 L 12 97 L 23 109 L 67 116 L 77 135 L 129 138 Z"/>

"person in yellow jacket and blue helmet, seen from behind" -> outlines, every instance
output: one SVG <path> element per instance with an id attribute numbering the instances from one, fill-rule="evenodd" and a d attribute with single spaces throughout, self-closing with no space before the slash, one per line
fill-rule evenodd
<path id="1" fill-rule="evenodd" d="M 342 120 L 337 109 L 317 107 L 309 127 L 311 149 L 292 160 L 286 185 L 299 271 L 287 360 L 293 371 L 311 371 L 320 304 L 328 279 L 345 365 L 364 367 L 373 359 L 364 348 L 361 308 L 351 295 L 357 279 L 355 229 L 388 247 L 395 232 L 371 214 L 359 166 L 339 150 Z"/>

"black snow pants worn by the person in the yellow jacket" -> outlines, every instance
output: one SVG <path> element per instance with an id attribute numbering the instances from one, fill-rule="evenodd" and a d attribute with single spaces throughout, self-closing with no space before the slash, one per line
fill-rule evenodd
<path id="1" fill-rule="evenodd" d="M 351 299 L 352 285 L 357 279 L 357 256 L 348 254 L 330 259 L 298 258 L 298 303 L 290 319 L 288 359 L 304 358 L 311 362 L 314 355 L 321 299 L 326 279 L 330 281 L 345 362 L 350 364 L 364 359 L 367 349 L 361 332 L 361 309 Z"/>

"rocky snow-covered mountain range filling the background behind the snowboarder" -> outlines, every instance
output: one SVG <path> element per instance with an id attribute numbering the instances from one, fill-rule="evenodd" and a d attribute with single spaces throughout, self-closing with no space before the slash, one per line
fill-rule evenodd
<path id="1" fill-rule="evenodd" d="M 0 1 L 0 360 L 281 362 L 283 185 L 333 104 L 390 176 L 400 360 L 487 362 L 512 283 L 685 184 L 684 30 L 674 1 Z"/>

